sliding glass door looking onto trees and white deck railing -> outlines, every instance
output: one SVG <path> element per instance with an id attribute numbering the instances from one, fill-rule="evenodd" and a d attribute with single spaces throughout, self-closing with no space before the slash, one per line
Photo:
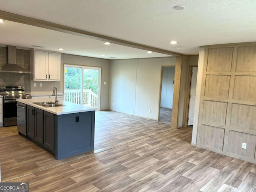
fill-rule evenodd
<path id="1" fill-rule="evenodd" d="M 64 65 L 64 95 L 68 102 L 100 110 L 101 68 Z"/>

